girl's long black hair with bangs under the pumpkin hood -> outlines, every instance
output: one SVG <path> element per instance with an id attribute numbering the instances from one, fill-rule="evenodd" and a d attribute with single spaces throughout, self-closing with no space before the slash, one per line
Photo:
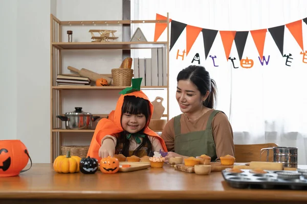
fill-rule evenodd
<path id="1" fill-rule="evenodd" d="M 131 115 L 144 114 L 146 118 L 146 124 L 147 124 L 150 118 L 149 102 L 148 100 L 145 100 L 144 98 L 136 97 L 133 95 L 125 96 L 121 112 L 122 112 L 121 117 L 125 113 L 131 114 Z M 139 132 L 139 134 L 145 135 L 144 129 L 145 129 L 145 126 Z M 125 157 L 129 157 L 129 146 L 130 146 L 130 141 L 126 138 L 127 134 L 129 133 L 126 131 L 121 132 L 120 137 L 117 138 L 117 144 L 115 147 L 117 149 L 120 143 L 123 144 L 123 148 L 121 152 L 119 152 L 119 154 L 122 154 Z M 138 146 L 138 148 L 134 150 L 133 155 L 139 156 L 138 154 L 139 150 L 146 144 L 147 144 L 147 155 L 148 155 L 149 152 L 151 151 L 151 142 L 149 141 L 149 138 L 147 137 L 147 135 L 146 137 L 143 138 L 141 145 Z"/>

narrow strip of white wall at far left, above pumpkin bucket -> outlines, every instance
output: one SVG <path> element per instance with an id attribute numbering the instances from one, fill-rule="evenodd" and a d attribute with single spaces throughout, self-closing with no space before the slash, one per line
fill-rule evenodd
<path id="1" fill-rule="evenodd" d="M 17 0 L 0 1 L 0 139 L 16 139 Z"/>

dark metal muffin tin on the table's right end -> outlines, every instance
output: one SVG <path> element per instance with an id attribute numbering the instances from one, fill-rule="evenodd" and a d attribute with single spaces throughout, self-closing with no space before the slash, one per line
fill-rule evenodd
<path id="1" fill-rule="evenodd" d="M 250 173 L 242 169 L 241 173 L 222 171 L 224 180 L 233 188 L 293 189 L 307 190 L 307 169 L 297 171 L 272 171 L 268 173 Z"/>

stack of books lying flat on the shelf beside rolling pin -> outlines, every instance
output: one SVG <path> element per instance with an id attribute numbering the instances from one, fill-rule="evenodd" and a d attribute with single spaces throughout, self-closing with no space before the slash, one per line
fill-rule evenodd
<path id="1" fill-rule="evenodd" d="M 76 74 L 58 74 L 56 78 L 58 86 L 91 86 L 91 80 Z"/>

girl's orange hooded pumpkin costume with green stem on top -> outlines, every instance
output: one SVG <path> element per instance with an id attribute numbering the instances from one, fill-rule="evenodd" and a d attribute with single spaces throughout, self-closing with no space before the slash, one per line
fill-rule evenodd
<path id="1" fill-rule="evenodd" d="M 109 114 L 108 118 L 102 118 L 96 126 L 89 151 L 87 152 L 87 157 L 96 158 L 98 159 L 98 161 L 100 161 L 101 158 L 98 155 L 98 150 L 101 146 L 102 138 L 106 135 L 116 136 L 115 134 L 123 132 L 123 128 L 121 126 L 121 115 L 122 115 L 121 109 L 124 103 L 124 97 L 126 95 L 134 95 L 136 97 L 148 100 L 150 117 L 145 125 L 144 134 L 151 137 L 157 137 L 162 144 L 163 151 L 167 151 L 164 140 L 156 132 L 150 130 L 148 127 L 149 121 L 153 113 L 153 106 L 149 101 L 148 97 L 145 95 L 145 93 L 141 91 L 141 82 L 142 78 L 132 79 L 132 87 L 127 87 L 121 92 L 119 92 L 121 96 L 117 101 L 116 109 Z"/>

